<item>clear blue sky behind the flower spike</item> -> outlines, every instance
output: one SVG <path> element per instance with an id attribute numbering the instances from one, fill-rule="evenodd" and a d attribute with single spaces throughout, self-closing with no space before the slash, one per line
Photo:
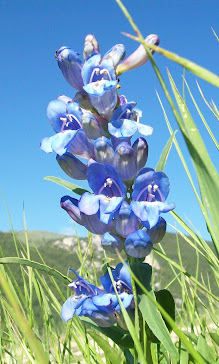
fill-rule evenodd
<path id="1" fill-rule="evenodd" d="M 219 43 L 211 30 L 213 27 L 219 35 L 217 0 L 125 0 L 124 4 L 145 36 L 156 33 L 163 48 L 219 73 Z M 82 54 L 84 37 L 93 33 L 102 54 L 114 44 L 123 43 L 129 55 L 137 44 L 121 32 L 133 34 L 133 31 L 114 0 L 0 0 L 0 29 L 0 189 L 7 201 L 13 227 L 23 230 L 24 203 L 28 229 L 71 233 L 73 224 L 59 206 L 60 198 L 70 191 L 43 181 L 49 175 L 70 179 L 59 168 L 55 154 L 45 154 L 39 148 L 43 137 L 53 135 L 46 116 L 49 101 L 60 94 L 70 97 L 75 94 L 58 69 L 54 53 L 62 45 L 68 45 Z M 155 59 L 164 78 L 167 80 L 168 67 L 177 87 L 182 90 L 182 68 L 161 55 L 156 54 Z M 186 72 L 186 79 L 212 131 L 218 136 L 218 122 L 197 91 L 196 77 Z M 176 123 L 149 63 L 123 74 L 120 80 L 120 94 L 125 94 L 129 101 L 136 101 L 143 111 L 142 122 L 154 128 L 153 135 L 147 139 L 147 166 L 155 168 L 169 137 L 155 89 L 164 102 L 173 129 L 177 129 Z M 219 107 L 218 89 L 202 80 L 200 85 L 207 100 L 213 99 Z M 191 104 L 189 95 L 186 99 Z M 192 105 L 191 109 L 211 157 L 218 165 L 218 152 Z M 178 138 L 181 142 L 181 137 Z M 184 143 L 181 145 L 185 151 Z M 192 168 L 189 157 L 188 163 Z M 174 147 L 165 172 L 171 181 L 168 201 L 174 202 L 176 212 L 188 218 L 208 238 Z M 164 217 L 174 224 L 170 214 Z M 0 230 L 9 229 L 9 218 L 0 196 Z M 78 228 L 78 233 L 85 232 Z"/>

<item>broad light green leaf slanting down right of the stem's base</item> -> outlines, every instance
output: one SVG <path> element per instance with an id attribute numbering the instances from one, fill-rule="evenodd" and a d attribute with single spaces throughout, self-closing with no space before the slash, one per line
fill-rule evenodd
<path id="1" fill-rule="evenodd" d="M 155 298 L 153 291 L 150 295 Z M 169 352 L 173 359 L 178 359 L 178 353 L 173 345 L 169 331 L 162 319 L 162 316 L 156 306 L 151 302 L 151 300 L 145 295 L 140 296 L 139 309 L 141 310 L 142 316 L 153 334 L 162 342 L 165 349 Z"/>

